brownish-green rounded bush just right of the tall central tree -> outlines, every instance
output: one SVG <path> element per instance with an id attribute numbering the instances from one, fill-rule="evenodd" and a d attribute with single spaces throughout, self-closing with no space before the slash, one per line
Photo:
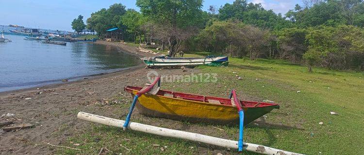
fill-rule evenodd
<path id="1" fill-rule="evenodd" d="M 205 49 L 225 51 L 236 57 L 248 54 L 251 60 L 267 51 L 272 39 L 269 31 L 239 20 L 215 21 L 201 31 L 198 38 Z"/>

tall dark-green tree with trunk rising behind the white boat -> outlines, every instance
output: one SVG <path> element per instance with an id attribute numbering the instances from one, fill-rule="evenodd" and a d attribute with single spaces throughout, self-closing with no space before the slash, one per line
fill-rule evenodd
<path id="1" fill-rule="evenodd" d="M 169 56 L 174 56 L 186 39 L 181 34 L 191 34 L 188 27 L 204 25 L 200 17 L 202 0 L 136 0 L 136 5 L 154 24 L 168 26 L 165 34 L 168 35 Z"/>

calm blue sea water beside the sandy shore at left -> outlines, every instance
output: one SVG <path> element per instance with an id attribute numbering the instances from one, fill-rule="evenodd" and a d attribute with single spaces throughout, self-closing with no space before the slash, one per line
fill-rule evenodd
<path id="1" fill-rule="evenodd" d="M 0 92 L 30 88 L 125 69 L 140 63 L 133 55 L 111 46 L 67 43 L 66 46 L 5 35 L 0 42 Z"/>

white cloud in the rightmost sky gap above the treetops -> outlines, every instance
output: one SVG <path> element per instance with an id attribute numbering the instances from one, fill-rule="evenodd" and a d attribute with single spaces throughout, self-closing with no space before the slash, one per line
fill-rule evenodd
<path id="1" fill-rule="evenodd" d="M 283 15 L 296 5 L 293 0 L 251 0 L 251 2 L 261 3 L 266 10 L 273 10 L 275 13 L 282 13 Z"/>

